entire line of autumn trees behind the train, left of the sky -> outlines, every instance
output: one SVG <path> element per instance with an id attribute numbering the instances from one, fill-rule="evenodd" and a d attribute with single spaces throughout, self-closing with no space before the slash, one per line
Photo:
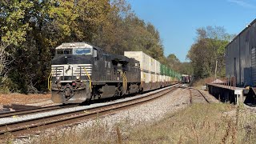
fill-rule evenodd
<path id="1" fill-rule="evenodd" d="M 62 42 L 90 42 L 114 54 L 142 50 L 167 64 L 158 30 L 126 0 L 2 0 L 0 10 L 2 92 L 45 92 Z"/>

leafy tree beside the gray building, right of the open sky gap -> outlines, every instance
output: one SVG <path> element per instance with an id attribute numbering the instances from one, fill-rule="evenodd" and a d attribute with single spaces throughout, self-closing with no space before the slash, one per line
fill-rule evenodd
<path id="1" fill-rule="evenodd" d="M 225 46 L 234 35 L 227 34 L 226 30 L 220 26 L 199 28 L 197 34 L 197 39 L 187 54 L 193 66 L 195 78 L 207 78 L 214 75 L 216 61 L 218 61 L 217 74 L 224 77 Z"/>

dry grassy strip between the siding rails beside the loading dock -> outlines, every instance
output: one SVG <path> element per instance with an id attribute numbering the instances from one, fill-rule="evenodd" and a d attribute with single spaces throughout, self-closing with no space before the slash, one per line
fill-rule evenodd
<path id="1" fill-rule="evenodd" d="M 204 94 L 200 90 L 189 88 L 190 90 L 190 103 L 202 103 L 207 102 L 210 103 Z"/>

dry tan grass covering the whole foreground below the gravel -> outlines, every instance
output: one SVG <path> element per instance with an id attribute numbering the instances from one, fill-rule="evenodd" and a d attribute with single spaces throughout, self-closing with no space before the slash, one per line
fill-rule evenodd
<path id="1" fill-rule="evenodd" d="M 98 119 L 83 130 L 42 134 L 32 143 L 254 143 L 256 116 L 242 106 L 194 104 L 158 122 L 109 125 Z"/>

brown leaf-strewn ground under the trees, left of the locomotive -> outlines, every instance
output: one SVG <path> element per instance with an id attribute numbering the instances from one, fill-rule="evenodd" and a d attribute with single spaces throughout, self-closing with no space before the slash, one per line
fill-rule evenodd
<path id="1" fill-rule="evenodd" d="M 0 105 L 35 104 L 50 101 L 50 94 L 0 94 Z"/>

